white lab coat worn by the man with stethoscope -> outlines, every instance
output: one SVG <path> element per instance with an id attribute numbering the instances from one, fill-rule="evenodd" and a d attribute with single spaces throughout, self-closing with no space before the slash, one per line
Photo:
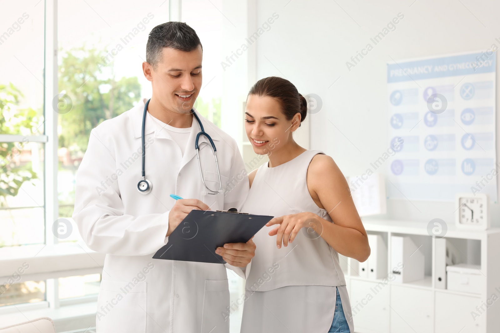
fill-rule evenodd
<path id="1" fill-rule="evenodd" d="M 152 191 L 137 191 L 141 179 L 141 122 L 144 103 L 92 129 L 76 175 L 73 219 L 87 246 L 105 253 L 97 301 L 97 332 L 228 333 L 228 264 L 152 259 L 167 243 L 168 213 L 175 200 L 203 201 L 211 210 L 238 210 L 248 193 L 248 178 L 236 142 L 200 116 L 216 148 L 222 188 L 206 193 L 194 140 L 200 131 L 192 117 L 183 157 L 168 132 L 147 113 L 145 175 Z M 198 113 L 199 115 L 199 113 Z M 200 136 L 205 183 L 218 189 L 211 147 Z M 208 250 L 207 250 L 208 251 Z M 225 267 L 224 267 L 225 266 Z M 249 270 L 249 268 L 247 268 Z"/>

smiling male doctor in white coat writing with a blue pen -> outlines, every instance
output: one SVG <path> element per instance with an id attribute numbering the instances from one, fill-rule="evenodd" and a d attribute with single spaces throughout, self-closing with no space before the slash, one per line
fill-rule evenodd
<path id="1" fill-rule="evenodd" d="M 167 22 L 149 33 L 142 69 L 152 86 L 144 129 L 150 193 L 137 189 L 144 103 L 90 133 L 76 176 L 73 219 L 88 247 L 106 254 L 99 333 L 229 332 L 225 267 L 245 278 L 241 267 L 255 251 L 251 240 L 228 244 L 220 253 L 225 265 L 152 259 L 192 209 L 239 210 L 248 193 L 235 140 L 197 113 L 217 149 L 221 191 L 209 194 L 201 180 L 195 150 L 200 126 L 190 111 L 201 88 L 201 59 L 200 40 L 187 24 Z M 204 136 L 199 158 L 206 187 L 218 190 L 213 151 Z M 170 194 L 186 199 L 175 201 Z"/>

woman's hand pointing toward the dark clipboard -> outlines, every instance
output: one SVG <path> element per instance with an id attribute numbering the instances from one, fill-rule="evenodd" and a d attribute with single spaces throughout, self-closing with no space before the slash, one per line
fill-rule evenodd
<path id="1" fill-rule="evenodd" d="M 314 231 L 321 229 L 319 216 L 310 212 L 275 217 L 267 222 L 266 226 L 269 227 L 274 224 L 279 224 L 279 226 L 269 231 L 269 236 L 276 235 L 276 247 L 278 249 L 281 248 L 281 242 L 284 246 L 291 243 L 302 228 L 313 228 Z"/>

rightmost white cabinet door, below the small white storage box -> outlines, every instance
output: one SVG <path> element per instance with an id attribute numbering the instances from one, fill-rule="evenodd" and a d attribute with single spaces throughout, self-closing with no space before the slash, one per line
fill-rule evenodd
<path id="1" fill-rule="evenodd" d="M 479 333 L 481 332 L 482 318 L 475 307 L 480 307 L 479 297 L 454 295 L 449 292 L 435 293 L 435 332 L 439 333 Z M 485 307 L 483 307 L 485 309 Z M 472 313 L 477 314 L 472 318 Z M 474 320 L 475 319 L 475 320 Z"/>

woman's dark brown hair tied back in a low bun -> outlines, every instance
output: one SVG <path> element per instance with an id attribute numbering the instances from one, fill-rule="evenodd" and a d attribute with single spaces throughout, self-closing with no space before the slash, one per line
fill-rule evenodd
<path id="1" fill-rule="evenodd" d="M 302 122 L 307 115 L 305 97 L 298 92 L 293 83 L 282 77 L 269 76 L 258 80 L 250 88 L 248 95 L 268 96 L 276 99 L 281 104 L 281 112 L 286 120 L 291 120 L 295 114 L 300 113 L 300 122 Z"/>

